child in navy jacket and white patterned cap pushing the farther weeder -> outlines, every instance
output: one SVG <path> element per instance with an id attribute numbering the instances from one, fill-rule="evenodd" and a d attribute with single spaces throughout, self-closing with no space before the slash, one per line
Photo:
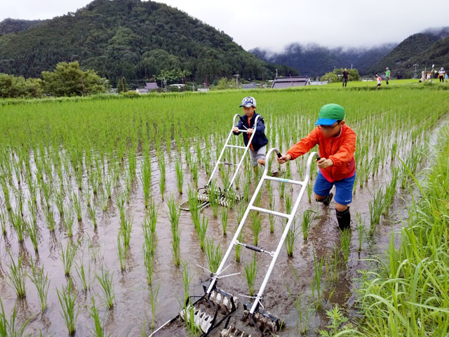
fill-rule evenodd
<path id="1" fill-rule="evenodd" d="M 240 134 L 239 130 L 245 129 L 247 132 L 243 133 L 243 143 L 245 146 L 248 146 L 251 134 L 254 132 L 255 118 L 259 116 L 259 114 L 255 112 L 255 98 L 251 96 L 243 98 L 240 107 L 243 107 L 243 112 L 245 112 L 245 114 L 240 117 L 239 123 L 234 126 L 232 131 L 234 131 L 234 135 L 237 136 Z M 255 129 L 253 141 L 250 143 L 250 156 L 251 159 L 253 159 L 254 168 L 257 164 L 265 165 L 265 152 L 267 152 L 268 138 L 265 136 L 264 119 L 262 116 L 259 117 L 257 128 Z"/>

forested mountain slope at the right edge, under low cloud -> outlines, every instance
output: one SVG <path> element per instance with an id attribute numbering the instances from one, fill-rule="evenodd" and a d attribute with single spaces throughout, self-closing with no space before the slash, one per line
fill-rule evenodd
<path id="1" fill-rule="evenodd" d="M 415 64 L 418 65 L 417 70 L 430 69 L 432 65 L 438 69 L 449 68 L 449 27 L 427 29 L 411 35 L 378 60 L 368 72 L 381 72 L 389 67 L 394 77 L 411 77 Z"/>

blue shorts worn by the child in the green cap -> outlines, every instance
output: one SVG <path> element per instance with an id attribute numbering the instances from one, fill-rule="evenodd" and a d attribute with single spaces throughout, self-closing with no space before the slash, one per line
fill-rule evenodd
<path id="1" fill-rule="evenodd" d="M 356 173 L 354 172 L 354 176 L 329 183 L 328 180 L 323 177 L 321 171 L 319 171 L 315 180 L 314 193 L 321 197 L 326 197 L 329 195 L 333 185 L 335 185 L 335 202 L 342 205 L 348 205 L 351 204 L 352 201 L 352 188 L 354 187 L 355 180 Z"/>

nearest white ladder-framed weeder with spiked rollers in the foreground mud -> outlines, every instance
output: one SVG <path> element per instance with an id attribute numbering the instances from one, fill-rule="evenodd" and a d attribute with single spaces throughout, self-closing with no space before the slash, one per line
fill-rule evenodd
<path id="1" fill-rule="evenodd" d="M 234 117 L 235 118 L 235 117 Z M 278 156 L 279 150 L 271 149 L 267 154 L 267 159 L 276 153 Z M 310 179 L 310 168 L 314 157 L 319 160 L 319 155 L 316 152 L 311 152 L 307 159 L 307 169 L 304 180 L 291 180 L 279 177 L 268 176 L 268 166 L 265 166 L 264 172 L 260 181 L 255 189 L 253 197 L 251 197 L 248 207 L 246 208 L 243 218 L 237 227 L 231 244 L 227 248 L 225 255 L 223 256 L 221 263 L 217 269 L 217 272 L 210 272 L 210 282 L 207 286 L 203 286 L 204 293 L 202 296 L 189 296 L 185 308 L 181 310 L 180 314 L 170 319 L 170 321 L 163 324 L 159 329 L 154 331 L 150 335 L 152 336 L 185 336 L 185 333 L 180 332 L 178 329 L 186 329 L 186 326 L 192 326 L 198 331 L 199 336 L 210 336 L 210 333 L 214 332 L 214 336 L 221 337 L 250 337 L 250 336 L 274 336 L 281 329 L 282 321 L 275 315 L 264 310 L 262 305 L 263 293 L 269 282 L 269 278 L 272 275 L 272 271 L 276 265 L 276 260 L 279 257 L 284 241 L 286 240 L 290 226 L 295 219 L 295 213 L 300 206 L 300 201 L 307 189 L 307 183 Z M 281 213 L 278 211 L 272 211 L 269 209 L 263 209 L 255 206 L 255 200 L 257 194 L 265 180 L 272 180 L 279 183 L 293 184 L 300 186 L 300 192 L 297 195 L 295 204 L 291 210 L 291 213 Z M 279 243 L 276 246 L 276 250 L 269 251 L 259 246 L 253 246 L 251 244 L 245 244 L 239 242 L 239 235 L 245 225 L 246 218 L 250 211 L 256 211 L 260 213 L 267 213 L 273 216 L 279 216 L 287 220 L 286 226 L 283 229 L 283 233 Z M 239 275 L 239 273 L 233 273 L 229 275 L 222 275 L 230 265 L 227 265 L 227 260 L 232 252 L 232 249 L 236 246 L 243 246 L 246 249 L 250 249 L 257 253 L 267 254 L 271 257 L 271 263 L 265 272 L 264 279 L 260 286 L 259 291 L 255 296 L 245 296 L 250 300 L 250 303 L 241 303 L 239 305 L 239 298 L 232 294 L 218 288 L 217 283 L 224 277 L 232 277 Z M 201 267 L 203 268 L 203 267 Z M 206 268 L 203 268 L 206 269 Z M 195 298 L 198 298 L 194 300 Z M 223 326 L 218 329 L 220 324 Z"/>

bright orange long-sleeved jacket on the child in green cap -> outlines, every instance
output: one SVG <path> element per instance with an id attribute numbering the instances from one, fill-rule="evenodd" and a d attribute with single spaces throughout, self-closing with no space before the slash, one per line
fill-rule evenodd
<path id="1" fill-rule="evenodd" d="M 346 124 L 342 125 L 340 135 L 333 138 L 324 137 L 321 129 L 317 126 L 299 143 L 293 145 L 287 154 L 290 154 L 292 159 L 296 159 L 318 144 L 320 157 L 331 159 L 334 163 L 333 166 L 320 169 L 324 178 L 333 183 L 335 180 L 354 176 L 356 171 L 354 159 L 356 138 L 356 133 Z"/>

